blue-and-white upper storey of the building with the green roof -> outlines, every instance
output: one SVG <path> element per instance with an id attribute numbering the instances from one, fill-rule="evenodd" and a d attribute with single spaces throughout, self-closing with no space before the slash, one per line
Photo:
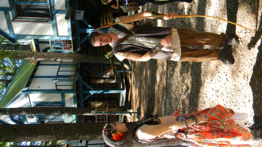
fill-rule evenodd
<path id="1" fill-rule="evenodd" d="M 0 101 L 0 108 L 77 107 L 77 62 L 24 60 Z M 52 80 L 61 79 L 61 82 Z M 63 81 L 62 81 L 63 80 Z M 76 123 L 76 115 L 0 115 L 2 124 Z"/>

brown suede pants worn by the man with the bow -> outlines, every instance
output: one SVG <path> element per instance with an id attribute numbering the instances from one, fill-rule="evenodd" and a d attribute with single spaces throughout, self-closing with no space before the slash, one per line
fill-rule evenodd
<path id="1" fill-rule="evenodd" d="M 225 45 L 228 35 L 210 32 L 199 32 L 190 29 L 177 29 L 181 44 L 181 58 L 179 61 L 214 61 L 222 51 L 218 49 Z M 189 46 L 213 45 L 216 49 L 191 49 Z"/>

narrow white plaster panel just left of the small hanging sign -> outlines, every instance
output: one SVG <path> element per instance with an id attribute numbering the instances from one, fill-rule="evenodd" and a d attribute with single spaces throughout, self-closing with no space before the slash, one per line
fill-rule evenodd
<path id="1" fill-rule="evenodd" d="M 57 22 L 57 36 L 68 36 L 65 14 L 55 14 Z"/>

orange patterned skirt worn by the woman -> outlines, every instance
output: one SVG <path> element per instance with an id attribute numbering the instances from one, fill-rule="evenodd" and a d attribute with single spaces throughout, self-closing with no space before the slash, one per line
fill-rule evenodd
<path id="1" fill-rule="evenodd" d="M 234 115 L 233 110 L 217 105 L 184 116 L 195 117 L 201 114 L 209 115 L 208 122 L 199 123 L 197 126 L 190 125 L 190 133 L 187 134 L 187 139 L 193 140 L 196 145 L 205 147 L 250 147 L 248 144 L 254 142 L 250 132 L 230 117 Z"/>

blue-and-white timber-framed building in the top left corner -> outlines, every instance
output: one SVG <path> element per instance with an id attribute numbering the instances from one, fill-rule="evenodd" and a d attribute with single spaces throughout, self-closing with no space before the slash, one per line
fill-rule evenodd
<path id="1" fill-rule="evenodd" d="M 51 45 L 58 46 L 58 44 L 60 44 L 59 47 L 54 47 L 57 51 L 52 52 L 76 53 L 81 50 L 81 44 L 88 39 L 94 28 L 85 19 L 74 19 L 75 11 L 73 10 L 79 9 L 78 0 L 28 1 L 1 0 L 0 35 L 2 37 L 12 43 L 33 40 L 38 52 L 46 52 L 47 49 L 52 48 Z M 89 1 L 87 3 L 96 10 Z M 86 27 L 80 28 L 80 21 Z M 107 28 L 101 31 L 108 32 Z M 80 38 L 80 33 L 83 33 L 84 37 Z M 60 50 L 64 49 L 61 47 L 61 44 L 64 44 L 63 40 L 70 42 L 71 51 Z"/>

